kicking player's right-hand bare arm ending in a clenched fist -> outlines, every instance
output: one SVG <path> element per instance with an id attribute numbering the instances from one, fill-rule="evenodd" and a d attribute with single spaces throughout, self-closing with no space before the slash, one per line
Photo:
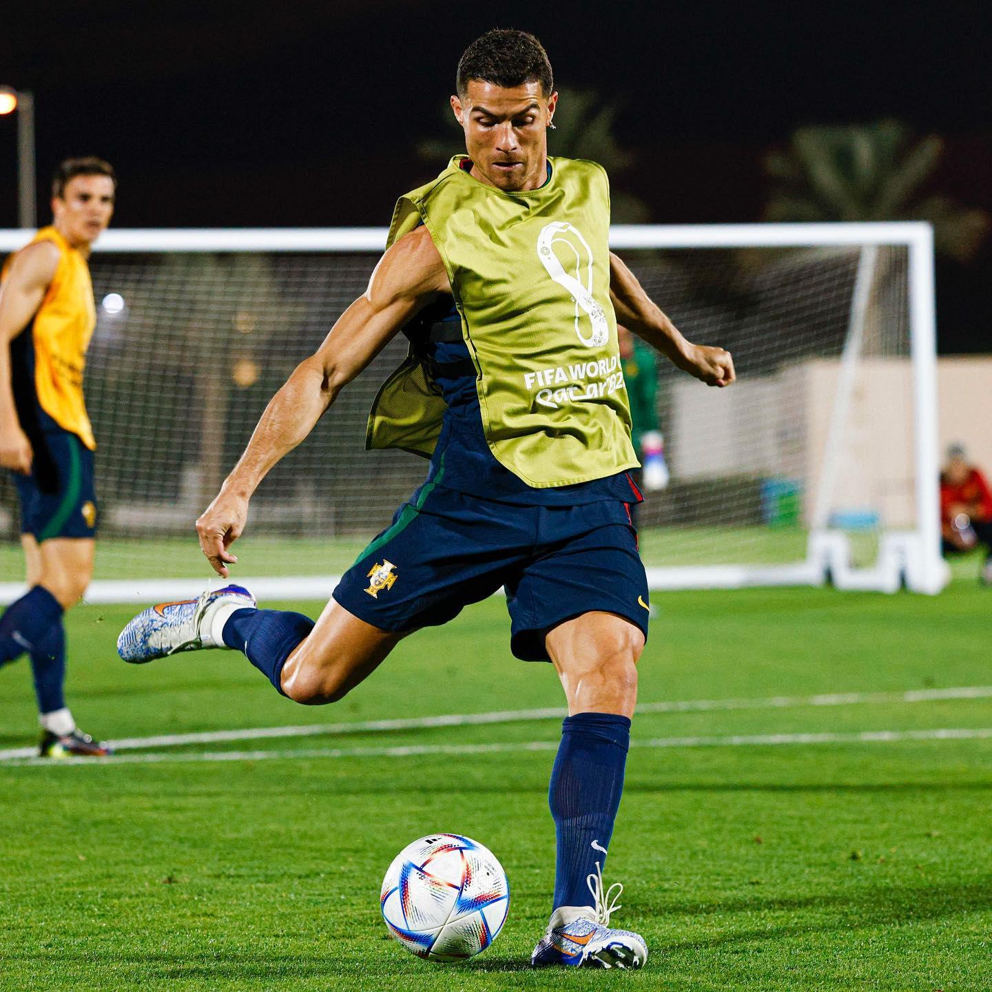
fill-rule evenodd
<path id="1" fill-rule="evenodd" d="M 623 261 L 610 252 L 610 300 L 617 323 L 656 347 L 683 372 L 707 386 L 729 386 L 736 378 L 729 351 L 686 341 L 678 327 L 653 303 Z"/>

